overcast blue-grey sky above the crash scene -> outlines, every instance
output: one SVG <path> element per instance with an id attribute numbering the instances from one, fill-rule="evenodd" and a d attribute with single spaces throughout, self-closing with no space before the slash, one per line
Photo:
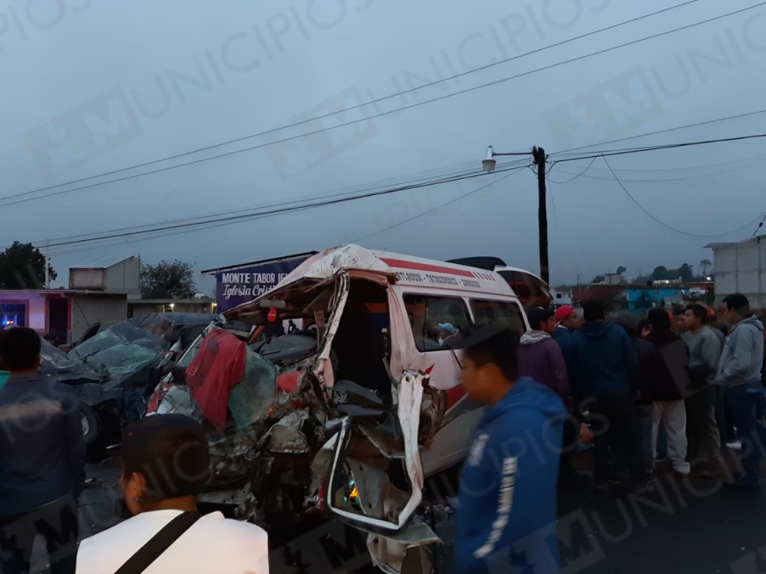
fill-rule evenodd
<path id="1" fill-rule="evenodd" d="M 682 2 L 3 2 L 0 195 L 243 138 Z M 754 4 L 699 0 L 377 106 L 110 179 L 394 110 Z M 44 243 L 476 169 L 489 144 L 497 152 L 543 146 L 550 159 L 563 159 L 556 152 L 760 110 L 764 64 L 766 6 L 321 136 L 74 192 L 63 191 L 77 184 L 5 199 L 35 198 L 14 205 L 0 200 L 0 245 Z M 764 132 L 766 113 L 587 151 Z M 519 158 L 498 159 L 501 169 L 506 160 Z M 766 212 L 762 139 L 608 161 L 636 202 L 674 229 L 644 213 L 604 159 L 592 165 L 590 159 L 556 163 L 548 174 L 552 284 L 573 283 L 578 275 L 591 280 L 620 265 L 628 275 L 660 264 L 697 265 L 712 259 L 705 244 L 750 237 L 755 220 Z M 495 255 L 536 273 L 535 174 L 521 169 L 500 180 L 502 175 L 183 235 L 58 247 L 51 249 L 52 261 L 62 283 L 68 267 L 101 258 L 140 254 L 149 263 L 178 258 L 201 270 L 358 240 L 369 248 L 442 260 Z M 51 192 L 63 193 L 38 198 Z M 209 281 L 202 286 L 209 290 Z"/>

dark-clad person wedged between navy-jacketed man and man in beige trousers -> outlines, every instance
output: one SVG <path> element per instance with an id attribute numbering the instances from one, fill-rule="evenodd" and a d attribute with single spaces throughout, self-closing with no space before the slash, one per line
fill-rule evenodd
<path id="1" fill-rule="evenodd" d="M 654 466 L 654 452 L 652 443 L 652 395 L 650 392 L 654 377 L 653 369 L 656 364 L 657 348 L 653 343 L 640 336 L 642 323 L 638 323 L 633 317 L 620 317 L 615 321 L 621 326 L 627 336 L 638 359 L 640 384 L 638 399 L 636 399 L 636 415 L 638 420 L 638 442 L 641 466 L 647 481 L 650 480 Z"/>

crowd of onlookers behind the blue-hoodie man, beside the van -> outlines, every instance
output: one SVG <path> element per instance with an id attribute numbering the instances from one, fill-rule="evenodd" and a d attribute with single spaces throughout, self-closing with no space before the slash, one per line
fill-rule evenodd
<path id="1" fill-rule="evenodd" d="M 597 301 L 582 313 L 529 310 L 519 375 L 555 389 L 570 408 L 565 451 L 587 421 L 598 490 L 652 490 L 663 459 L 676 474 L 722 477 L 727 450 L 741 452 L 732 484 L 759 484 L 766 335 L 744 295 L 725 297 L 719 315 L 691 304 L 609 320 Z M 577 476 L 571 457 L 562 459 L 561 476 Z"/>

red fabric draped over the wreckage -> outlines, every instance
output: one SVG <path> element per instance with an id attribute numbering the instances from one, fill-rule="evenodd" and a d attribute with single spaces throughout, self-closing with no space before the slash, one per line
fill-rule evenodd
<path id="1" fill-rule="evenodd" d="M 186 384 L 202 414 L 217 427 L 226 424 L 229 394 L 244 378 L 245 344 L 228 331 L 211 331 L 186 369 Z"/>

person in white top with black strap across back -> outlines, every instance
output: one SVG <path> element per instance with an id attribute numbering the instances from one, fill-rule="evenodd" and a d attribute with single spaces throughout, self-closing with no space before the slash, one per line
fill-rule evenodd
<path id="1" fill-rule="evenodd" d="M 80 543 L 77 574 L 268 574 L 263 529 L 220 512 L 197 512 L 210 473 L 198 422 L 177 414 L 142 418 L 123 432 L 122 457 L 120 487 L 133 517 Z"/>

